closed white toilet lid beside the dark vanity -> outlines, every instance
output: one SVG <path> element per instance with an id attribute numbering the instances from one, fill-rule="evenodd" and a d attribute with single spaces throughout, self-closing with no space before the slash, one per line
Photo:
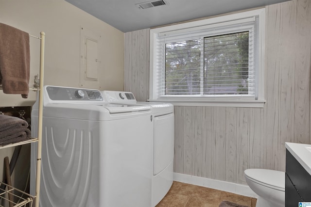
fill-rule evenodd
<path id="1" fill-rule="evenodd" d="M 267 169 L 247 169 L 244 171 L 245 176 L 256 180 L 264 185 L 269 185 L 271 188 L 285 189 L 285 173 L 276 170 Z"/>

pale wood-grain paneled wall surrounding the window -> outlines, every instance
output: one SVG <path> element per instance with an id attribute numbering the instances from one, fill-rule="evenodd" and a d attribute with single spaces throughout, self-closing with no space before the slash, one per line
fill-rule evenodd
<path id="1" fill-rule="evenodd" d="M 311 143 L 311 0 L 266 7 L 264 108 L 175 106 L 174 172 L 245 184 L 285 171 L 285 142 Z M 125 89 L 148 99 L 149 29 L 125 33 Z"/>

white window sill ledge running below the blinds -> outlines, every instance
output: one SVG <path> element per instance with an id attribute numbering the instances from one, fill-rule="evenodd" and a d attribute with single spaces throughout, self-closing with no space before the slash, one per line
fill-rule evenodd
<path id="1" fill-rule="evenodd" d="M 265 100 L 190 100 L 158 98 L 150 99 L 151 102 L 167 102 L 174 106 L 210 106 L 210 107 L 243 107 L 243 108 L 263 108 Z"/>

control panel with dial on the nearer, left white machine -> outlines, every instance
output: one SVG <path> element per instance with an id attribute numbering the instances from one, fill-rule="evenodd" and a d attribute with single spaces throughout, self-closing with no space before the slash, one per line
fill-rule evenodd
<path id="1" fill-rule="evenodd" d="M 46 91 L 51 100 L 83 100 L 83 101 L 103 101 L 104 97 L 99 90 L 84 88 L 67 88 L 57 86 L 47 86 Z"/>

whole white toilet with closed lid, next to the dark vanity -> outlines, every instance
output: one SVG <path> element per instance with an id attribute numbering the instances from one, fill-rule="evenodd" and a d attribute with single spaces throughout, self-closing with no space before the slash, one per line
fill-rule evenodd
<path id="1" fill-rule="evenodd" d="M 259 195 L 256 207 L 285 207 L 285 172 L 247 169 L 244 175 L 248 186 Z"/>

